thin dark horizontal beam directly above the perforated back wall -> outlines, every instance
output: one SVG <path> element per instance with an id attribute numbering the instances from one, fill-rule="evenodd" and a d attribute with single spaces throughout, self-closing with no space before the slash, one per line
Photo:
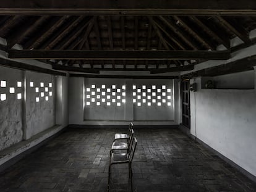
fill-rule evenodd
<path id="1" fill-rule="evenodd" d="M 70 77 L 87 77 L 87 78 L 127 78 L 127 79 L 176 79 L 178 76 L 153 76 L 153 75 L 90 75 L 70 73 Z"/>

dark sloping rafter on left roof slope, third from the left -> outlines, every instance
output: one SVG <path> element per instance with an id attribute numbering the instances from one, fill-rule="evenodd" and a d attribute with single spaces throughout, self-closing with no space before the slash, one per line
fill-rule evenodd
<path id="1" fill-rule="evenodd" d="M 75 27 L 77 27 L 77 25 L 79 25 L 79 23 L 85 19 L 85 16 L 80 16 L 77 19 L 75 19 L 74 22 L 69 23 L 69 25 L 64 28 L 62 31 L 58 32 L 58 35 L 56 38 L 54 38 L 53 41 L 51 41 L 51 43 L 48 44 L 48 46 L 46 46 L 45 49 L 52 49 L 54 48 L 54 46 L 59 43 L 59 41 L 62 40 L 62 38 L 64 38 L 64 36 L 66 36 L 71 30 L 74 30 Z"/>

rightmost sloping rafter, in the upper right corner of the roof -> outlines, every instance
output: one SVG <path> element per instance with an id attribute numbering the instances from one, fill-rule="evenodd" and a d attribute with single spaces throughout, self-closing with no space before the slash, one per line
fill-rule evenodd
<path id="1" fill-rule="evenodd" d="M 237 30 L 237 27 L 234 27 L 223 17 L 218 16 L 217 19 L 222 23 L 222 26 L 227 28 L 228 30 L 232 31 L 236 36 L 238 36 L 244 43 L 249 43 L 249 32 L 246 30 Z"/>

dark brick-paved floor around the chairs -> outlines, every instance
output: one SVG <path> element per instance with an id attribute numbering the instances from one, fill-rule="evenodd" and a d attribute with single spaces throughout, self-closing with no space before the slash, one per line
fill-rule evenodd
<path id="1" fill-rule="evenodd" d="M 106 191 L 109 147 L 119 131 L 66 130 L 0 173 L 0 191 Z M 135 128 L 135 136 L 134 191 L 256 191 L 255 183 L 179 130 Z M 127 167 L 113 167 L 111 191 L 129 191 Z"/>

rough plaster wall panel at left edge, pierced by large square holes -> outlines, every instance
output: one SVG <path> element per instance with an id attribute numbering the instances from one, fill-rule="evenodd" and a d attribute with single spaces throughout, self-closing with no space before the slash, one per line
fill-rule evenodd
<path id="1" fill-rule="evenodd" d="M 22 141 L 22 99 L 23 71 L 0 67 L 0 80 L 6 81 L 6 88 L 0 87 L 0 93 L 6 94 L 6 100 L 0 101 L 0 150 Z M 22 88 L 17 88 L 17 81 L 22 81 Z M 15 93 L 9 88 L 14 87 Z M 22 99 L 17 99 L 22 93 Z"/>

